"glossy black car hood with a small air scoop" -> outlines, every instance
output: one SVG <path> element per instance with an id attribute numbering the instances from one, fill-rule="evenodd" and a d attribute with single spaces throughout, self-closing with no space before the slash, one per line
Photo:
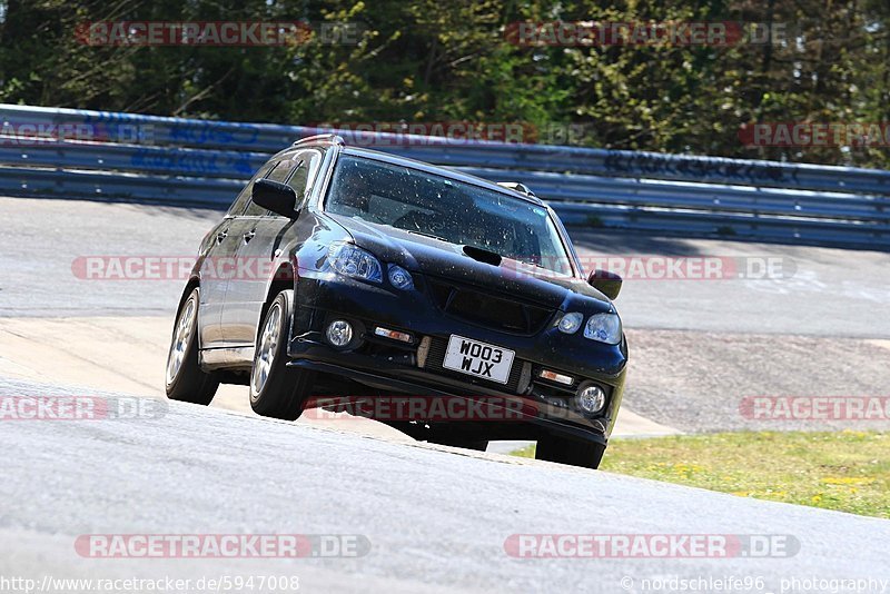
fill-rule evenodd
<path id="1" fill-rule="evenodd" d="M 505 259 L 501 266 L 494 266 L 471 258 L 463 246 L 355 217 L 325 215 L 339 224 L 357 246 L 409 271 L 515 295 L 555 309 L 612 310 L 609 298 L 582 279 L 531 267 L 517 269 L 514 260 Z"/>

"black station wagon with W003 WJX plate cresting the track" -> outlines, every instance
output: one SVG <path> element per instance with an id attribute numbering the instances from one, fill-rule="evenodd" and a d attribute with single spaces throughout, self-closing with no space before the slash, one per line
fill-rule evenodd
<path id="1" fill-rule="evenodd" d="M 207 405 L 219 383 L 244 384 L 254 410 L 281 419 L 345 397 L 482 403 L 483 415 L 378 418 L 462 447 L 535 439 L 541 459 L 595 468 L 627 344 L 621 278 L 583 275 L 560 219 L 522 185 L 307 138 L 201 242 L 167 395 Z"/>

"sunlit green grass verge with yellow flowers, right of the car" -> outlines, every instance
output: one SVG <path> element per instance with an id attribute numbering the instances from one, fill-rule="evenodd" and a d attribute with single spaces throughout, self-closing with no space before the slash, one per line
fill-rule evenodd
<path id="1" fill-rule="evenodd" d="M 534 446 L 513 453 L 534 457 Z M 890 518 L 890 434 L 740 432 L 612 439 L 601 469 Z"/>

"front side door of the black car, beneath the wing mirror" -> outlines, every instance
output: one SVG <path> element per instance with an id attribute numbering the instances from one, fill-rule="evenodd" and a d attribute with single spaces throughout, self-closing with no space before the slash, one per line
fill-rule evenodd
<path id="1" fill-rule="evenodd" d="M 269 171 L 268 179 L 288 184 L 297 195 L 298 207 L 303 207 L 312 188 L 312 181 L 322 164 L 322 152 L 305 149 L 288 154 Z M 221 324 L 233 343 L 253 345 L 256 339 L 259 316 L 266 303 L 269 275 L 280 256 L 285 232 L 293 219 L 254 206 L 248 207 L 250 222 L 238 245 L 237 257 L 243 263 L 245 275 L 233 278 L 226 290 L 226 307 Z"/>

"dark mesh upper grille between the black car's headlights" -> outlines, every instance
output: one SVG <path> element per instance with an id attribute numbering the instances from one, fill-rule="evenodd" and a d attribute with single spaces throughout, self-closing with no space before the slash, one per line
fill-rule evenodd
<path id="1" fill-rule="evenodd" d="M 554 314 L 554 309 L 496 297 L 441 279 L 431 279 L 429 289 L 445 314 L 511 334 L 537 334 Z"/>

